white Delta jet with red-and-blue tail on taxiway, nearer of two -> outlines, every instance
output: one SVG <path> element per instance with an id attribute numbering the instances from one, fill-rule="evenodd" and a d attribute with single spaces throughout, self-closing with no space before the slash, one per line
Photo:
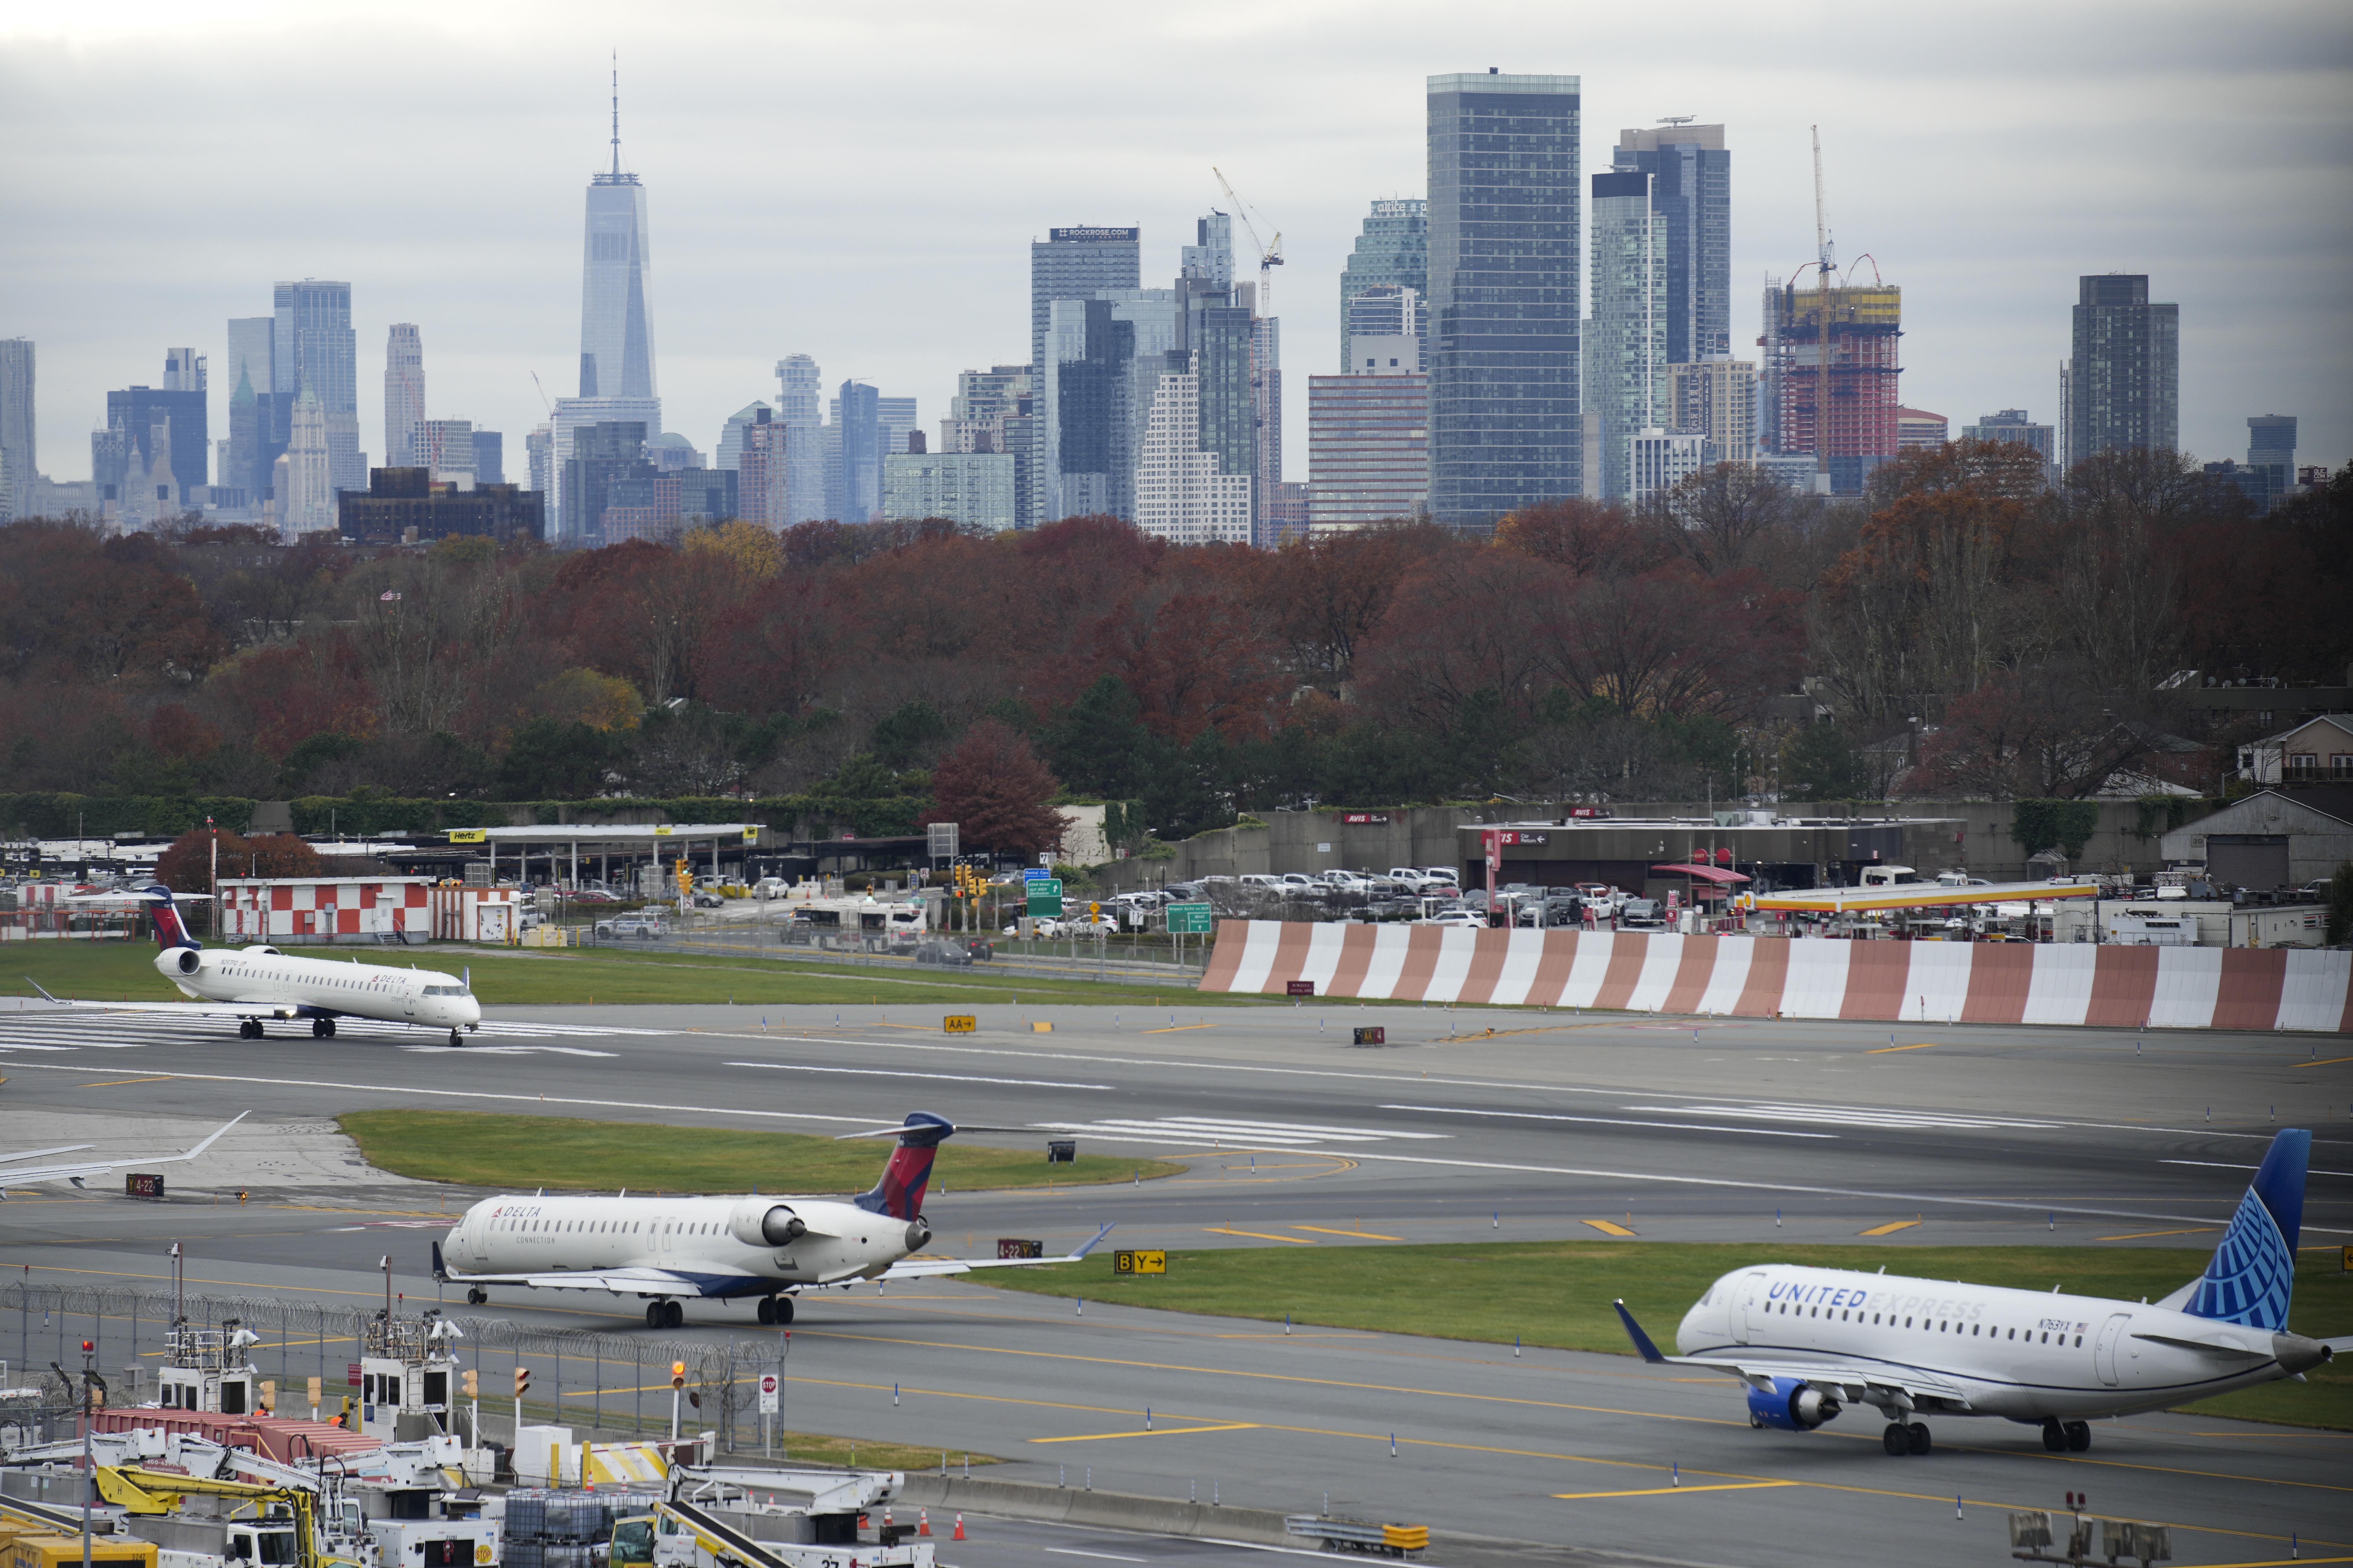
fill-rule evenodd
<path id="1" fill-rule="evenodd" d="M 647 1328 L 680 1328 L 680 1298 L 755 1295 L 762 1324 L 791 1324 L 802 1291 L 1078 1262 L 1111 1234 L 1106 1225 L 1064 1258 L 911 1258 L 932 1239 L 922 1192 L 955 1124 L 918 1110 L 899 1126 L 842 1135 L 899 1140 L 882 1178 L 854 1199 L 494 1197 L 433 1244 L 433 1279 L 466 1286 L 475 1307 L 489 1286 L 631 1293 L 645 1300 Z"/>

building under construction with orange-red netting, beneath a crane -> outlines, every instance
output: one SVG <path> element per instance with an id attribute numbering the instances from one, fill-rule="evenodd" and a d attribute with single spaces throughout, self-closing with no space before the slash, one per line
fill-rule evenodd
<path id="1" fill-rule="evenodd" d="M 1791 277 L 1786 284 L 1767 280 L 1765 287 L 1760 444 L 1817 461 L 1828 451 L 1828 491 L 1835 496 L 1861 494 L 1871 470 L 1897 454 L 1901 296 L 1899 287 L 1875 280 L 1871 287 L 1824 289 Z"/>

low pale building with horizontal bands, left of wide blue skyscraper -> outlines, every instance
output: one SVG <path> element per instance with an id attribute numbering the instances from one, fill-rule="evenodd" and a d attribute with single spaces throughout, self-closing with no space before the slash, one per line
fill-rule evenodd
<path id="1" fill-rule="evenodd" d="M 1308 529 L 1329 534 L 1419 517 L 1431 494 L 1431 383 L 1405 355 L 1412 339 L 1358 339 L 1372 369 L 1308 376 Z M 1386 367 L 1384 360 L 1405 360 Z"/>

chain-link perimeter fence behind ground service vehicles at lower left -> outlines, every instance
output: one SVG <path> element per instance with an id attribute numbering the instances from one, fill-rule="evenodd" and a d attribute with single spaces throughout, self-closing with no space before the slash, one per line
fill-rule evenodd
<path id="1" fill-rule="evenodd" d="M 381 1316 L 381 1307 L 325 1307 L 318 1302 L 249 1295 L 174 1295 L 169 1291 L 132 1291 L 118 1286 L 38 1286 L 12 1284 L 0 1291 L 0 1314 L 14 1309 L 16 1345 L 7 1345 L 9 1375 L 0 1387 L 16 1385 L 38 1396 L 12 1401 L 0 1410 L 0 1425 L 16 1427 L 14 1443 L 0 1432 L 0 1446 L 54 1441 L 35 1429 L 64 1425 L 73 1434 L 71 1394 L 52 1366 L 80 1373 L 82 1340 L 94 1345 L 92 1366 L 111 1385 L 108 1403 L 144 1403 L 155 1392 L 155 1368 L 162 1361 L 165 1333 L 179 1314 L 191 1328 L 242 1326 L 259 1335 L 245 1349 L 256 1380 L 275 1380 L 278 1415 L 308 1418 L 308 1380 L 320 1380 L 318 1418 L 334 1420 L 360 1396 L 360 1333 Z M 400 1314 L 428 1309 L 400 1305 Z M 776 1331 L 760 1340 L 725 1342 L 668 1340 L 631 1333 L 586 1333 L 574 1328 L 532 1328 L 508 1319 L 482 1319 L 442 1312 L 459 1331 L 449 1352 L 461 1368 L 480 1380 L 482 1425 L 506 1425 L 515 1413 L 513 1373 L 527 1368 L 532 1387 L 522 1396 L 522 1420 L 574 1427 L 581 1436 L 671 1432 L 671 1366 L 685 1361 L 687 1387 L 678 1403 L 680 1434 L 718 1432 L 720 1448 L 748 1453 L 760 1448 L 758 1385 L 762 1373 L 776 1373 L 784 1427 L 791 1387 L 784 1382 L 791 1335 Z M 0 1319 L 5 1338 L 5 1319 Z M 21 1375 L 19 1375 L 21 1371 Z M 464 1401 L 459 1401 L 464 1403 Z M 452 1408 L 456 1415 L 456 1408 Z"/>

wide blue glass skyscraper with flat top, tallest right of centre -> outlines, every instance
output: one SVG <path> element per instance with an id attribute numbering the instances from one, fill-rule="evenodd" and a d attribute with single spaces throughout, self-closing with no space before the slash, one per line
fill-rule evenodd
<path id="1" fill-rule="evenodd" d="M 1579 494 L 1574 75 L 1433 75 L 1431 517 Z"/>

